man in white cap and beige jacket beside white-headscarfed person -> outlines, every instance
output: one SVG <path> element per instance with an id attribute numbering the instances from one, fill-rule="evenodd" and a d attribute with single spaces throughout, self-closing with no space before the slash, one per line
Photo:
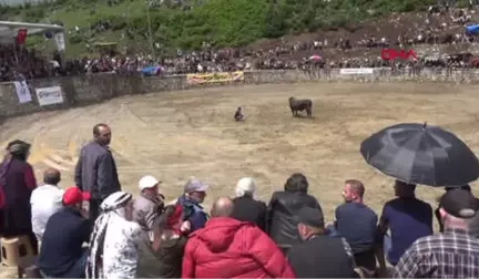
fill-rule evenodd
<path id="1" fill-rule="evenodd" d="M 154 219 L 162 213 L 164 207 L 164 196 L 159 193 L 161 184 L 151 175 L 140 179 L 140 195 L 134 202 L 133 218 L 143 231 L 152 230 Z"/>

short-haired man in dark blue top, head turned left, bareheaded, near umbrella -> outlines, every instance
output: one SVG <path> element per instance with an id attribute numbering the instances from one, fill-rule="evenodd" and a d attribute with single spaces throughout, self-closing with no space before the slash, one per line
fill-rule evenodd
<path id="1" fill-rule="evenodd" d="M 335 210 L 333 234 L 346 238 L 355 256 L 356 266 L 376 270 L 375 236 L 378 217 L 364 204 L 365 187 L 357 179 L 345 182 L 345 204 Z"/>

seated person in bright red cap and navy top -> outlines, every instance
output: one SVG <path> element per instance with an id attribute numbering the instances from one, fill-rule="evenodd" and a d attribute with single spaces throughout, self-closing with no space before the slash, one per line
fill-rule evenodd
<path id="1" fill-rule="evenodd" d="M 44 278 L 85 277 L 88 250 L 82 245 L 89 241 L 91 225 L 82 204 L 89 199 L 88 193 L 69 187 L 62 197 L 64 208 L 48 220 L 38 261 Z"/>

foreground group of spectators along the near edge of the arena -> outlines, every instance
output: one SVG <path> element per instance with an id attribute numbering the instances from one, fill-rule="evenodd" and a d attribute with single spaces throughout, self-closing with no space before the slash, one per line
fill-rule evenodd
<path id="1" fill-rule="evenodd" d="M 93 127 L 80 152 L 75 186 L 48 168 L 37 185 L 30 144 L 10 142 L 0 165 L 0 235 L 27 235 L 43 278 L 479 278 L 479 202 L 470 187 L 448 187 L 434 211 L 416 185 L 396 180 L 378 216 L 365 185 L 347 179 L 344 204 L 326 223 L 308 179 L 295 173 L 269 202 L 241 178 L 234 198 L 202 206 L 208 186 L 190 178 L 166 202 L 146 175 L 137 197 L 122 189 L 109 149 L 111 128 Z M 434 234 L 432 220 L 440 231 Z"/>

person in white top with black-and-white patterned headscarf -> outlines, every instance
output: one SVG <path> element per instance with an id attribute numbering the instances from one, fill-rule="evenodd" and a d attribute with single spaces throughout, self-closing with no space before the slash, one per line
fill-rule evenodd
<path id="1" fill-rule="evenodd" d="M 101 204 L 90 238 L 88 279 L 133 279 L 141 227 L 133 220 L 133 196 L 116 192 Z"/>

